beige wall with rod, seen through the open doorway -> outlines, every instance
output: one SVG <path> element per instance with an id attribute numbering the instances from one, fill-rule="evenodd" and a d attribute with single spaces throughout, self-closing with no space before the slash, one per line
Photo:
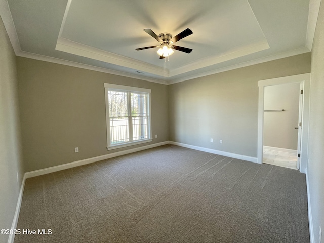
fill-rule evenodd
<path id="1" fill-rule="evenodd" d="M 263 145 L 297 150 L 300 83 L 264 88 Z"/>

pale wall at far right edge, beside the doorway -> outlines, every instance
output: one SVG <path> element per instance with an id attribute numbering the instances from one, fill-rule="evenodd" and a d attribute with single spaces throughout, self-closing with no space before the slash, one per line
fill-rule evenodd
<path id="1" fill-rule="evenodd" d="M 311 57 L 309 120 L 309 195 L 314 243 L 319 243 L 319 226 L 324 241 L 324 4 L 321 3 Z"/>

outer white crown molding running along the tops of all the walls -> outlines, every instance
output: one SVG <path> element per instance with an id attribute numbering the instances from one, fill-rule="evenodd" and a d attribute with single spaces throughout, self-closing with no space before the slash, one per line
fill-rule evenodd
<path id="1" fill-rule="evenodd" d="M 69 0 L 67 3 L 66 14 L 68 12 L 68 7 L 69 7 L 70 3 L 71 3 L 71 0 Z M 175 78 L 173 80 L 170 80 L 171 75 L 169 75 L 169 74 L 162 75 L 161 79 L 155 79 L 155 78 L 149 78 L 149 77 L 145 77 L 145 76 L 139 76 L 140 74 L 131 74 L 131 73 L 127 73 L 127 72 L 115 71 L 115 70 L 111 70 L 111 69 L 107 69 L 107 68 L 95 67 L 95 66 L 91 66 L 91 65 L 87 65 L 87 64 L 83 64 L 83 63 L 77 63 L 77 62 L 72 62 L 72 61 L 67 61 L 67 60 L 63 60 L 63 59 L 58 59 L 58 58 L 53 58 L 53 57 L 48 57 L 48 56 L 44 56 L 44 55 L 39 55 L 39 54 L 22 51 L 7 0 L 0 0 L 0 16 L 2 18 L 4 25 L 5 25 L 6 31 L 8 33 L 10 42 L 13 46 L 16 56 L 26 57 L 26 58 L 31 58 L 31 59 L 41 60 L 41 61 L 47 61 L 47 62 L 62 64 L 62 65 L 67 65 L 67 66 L 73 66 L 73 67 L 78 67 L 78 68 L 84 68 L 84 69 L 89 69 L 89 70 L 93 70 L 93 71 L 99 71 L 99 72 L 104 72 L 104 73 L 109 73 L 109 74 L 114 74 L 114 75 L 119 75 L 119 76 L 125 76 L 125 77 L 145 80 L 145 81 L 153 82 L 153 83 L 169 85 L 169 84 L 184 82 L 186 80 L 190 80 L 190 79 L 194 79 L 194 78 L 198 78 L 198 77 L 216 74 L 219 72 L 233 70 L 236 68 L 246 67 L 246 66 L 250 66 L 250 65 L 254 65 L 254 64 L 258 64 L 258 63 L 272 61 L 272 60 L 279 59 L 279 58 L 285 58 L 285 57 L 289 57 L 289 56 L 293 56 L 293 55 L 310 52 L 311 48 L 312 48 L 312 43 L 313 43 L 313 38 L 314 38 L 320 4 L 321 4 L 321 0 L 310 0 L 309 17 L 308 17 L 308 25 L 307 25 L 307 36 L 306 36 L 306 45 L 305 45 L 306 47 L 305 48 L 300 48 L 300 49 L 292 50 L 292 51 L 285 52 L 285 53 L 279 53 L 279 54 L 271 55 L 271 56 L 268 56 L 265 58 L 251 60 L 248 62 L 231 65 L 231 66 L 224 67 L 224 68 L 215 69 L 212 71 L 201 72 L 198 74 L 189 75 L 189 76 L 182 77 L 182 78 Z M 65 21 L 62 22 L 62 26 L 64 26 L 64 22 Z M 60 36 L 58 38 L 58 41 L 59 41 L 59 39 L 62 40 L 61 34 L 62 34 L 62 32 L 60 31 Z M 80 45 L 82 45 L 82 44 L 80 44 Z M 261 44 L 261 46 L 262 46 L 262 44 Z M 230 55 L 230 54 L 227 54 L 227 55 Z M 133 60 L 133 59 L 131 59 L 131 60 Z M 137 61 L 136 61 L 136 63 L 138 64 Z M 190 65 L 192 65 L 192 63 L 188 64 L 188 66 L 190 66 Z M 141 66 L 141 65 L 139 65 L 139 66 Z M 155 66 L 153 66 L 153 68 L 154 67 Z M 175 70 L 176 72 L 174 71 L 171 74 L 172 74 L 172 76 L 175 76 L 175 75 L 179 75 L 177 73 L 181 73 L 181 74 L 185 73 L 188 71 L 187 68 L 188 68 L 187 66 L 181 67 L 179 69 L 176 69 Z M 136 68 L 134 68 L 134 69 L 136 69 Z M 184 70 L 186 70 L 186 71 L 184 71 Z M 150 72 L 150 71 L 148 71 L 148 72 Z M 157 74 L 157 75 L 159 75 L 159 74 Z M 163 79 L 165 79 L 165 80 L 163 80 Z"/>

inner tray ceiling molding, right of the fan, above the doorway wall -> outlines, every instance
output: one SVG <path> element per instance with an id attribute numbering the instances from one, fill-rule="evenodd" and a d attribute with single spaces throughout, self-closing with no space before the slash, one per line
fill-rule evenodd
<path id="1" fill-rule="evenodd" d="M 238 58 L 238 57 L 253 54 L 253 53 L 263 51 L 263 50 L 266 50 L 269 48 L 270 48 L 270 46 L 267 41 L 252 43 L 252 44 L 245 45 L 245 46 L 239 46 L 239 47 L 236 47 L 234 50 L 232 49 L 232 50 L 228 51 L 227 53 L 223 53 L 223 54 L 217 55 L 217 56 L 210 56 L 207 58 L 202 58 L 202 59 L 192 62 L 184 67 L 177 68 L 174 71 L 170 72 L 170 77 L 176 76 L 179 74 L 183 74 L 186 72 L 190 72 L 190 71 L 193 71 L 193 70 L 196 70 L 199 68 L 204 68 L 204 67 L 208 67 L 208 66 L 215 65 L 218 63 L 226 62 L 226 61 Z"/>

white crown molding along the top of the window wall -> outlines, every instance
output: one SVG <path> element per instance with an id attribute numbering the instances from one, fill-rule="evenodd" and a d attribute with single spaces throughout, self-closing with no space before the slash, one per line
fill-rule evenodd
<path id="1" fill-rule="evenodd" d="M 154 79 L 154 78 L 139 76 L 139 74 L 131 74 L 131 73 L 126 73 L 126 72 L 115 71 L 115 70 L 102 68 L 102 67 L 95 67 L 95 66 L 91 66 L 91 65 L 87 65 L 87 64 L 83 64 L 83 63 L 67 61 L 67 60 L 63 60 L 63 59 L 59 59 L 59 58 L 43 56 L 43 55 L 34 54 L 34 53 L 30 53 L 30 52 L 20 51 L 16 55 L 19 57 L 25 57 L 25 58 L 35 59 L 35 60 L 39 60 L 39 61 L 51 62 L 51 63 L 61 64 L 61 65 L 66 65 L 66 66 L 71 66 L 71 67 L 83 68 L 83 69 L 87 69 L 87 70 L 104 72 L 104 73 L 109 73 L 109 74 L 113 74 L 113 75 L 130 77 L 130 78 L 140 79 L 140 80 L 144 80 L 144 81 L 148 81 L 148 82 L 167 85 L 167 82 L 164 80 L 158 80 L 158 79 Z"/>

